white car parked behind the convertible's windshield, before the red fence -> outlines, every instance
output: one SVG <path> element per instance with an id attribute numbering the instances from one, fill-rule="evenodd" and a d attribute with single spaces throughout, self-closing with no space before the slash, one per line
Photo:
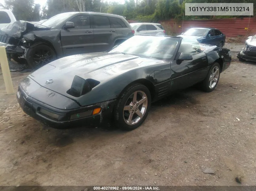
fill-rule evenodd
<path id="1" fill-rule="evenodd" d="M 164 27 L 159 23 L 130 23 L 134 35 L 137 34 L 152 34 L 165 35 Z"/>

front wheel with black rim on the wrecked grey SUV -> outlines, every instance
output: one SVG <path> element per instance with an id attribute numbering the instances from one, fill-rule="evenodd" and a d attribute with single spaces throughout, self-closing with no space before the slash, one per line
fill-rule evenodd
<path id="1" fill-rule="evenodd" d="M 41 68 L 56 60 L 56 58 L 55 51 L 46 44 L 39 44 L 33 48 L 29 48 L 27 52 L 28 66 L 33 69 Z"/>

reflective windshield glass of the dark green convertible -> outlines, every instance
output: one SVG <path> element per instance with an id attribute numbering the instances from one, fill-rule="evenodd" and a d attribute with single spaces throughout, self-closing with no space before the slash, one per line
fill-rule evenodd
<path id="1" fill-rule="evenodd" d="M 110 53 L 133 54 L 141 57 L 170 59 L 181 38 L 136 35 L 129 38 Z"/>

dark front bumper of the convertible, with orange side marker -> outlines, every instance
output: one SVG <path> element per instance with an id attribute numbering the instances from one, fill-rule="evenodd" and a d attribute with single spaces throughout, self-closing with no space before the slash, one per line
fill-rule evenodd
<path id="1" fill-rule="evenodd" d="M 116 100 L 110 100 L 77 109 L 60 110 L 30 97 L 20 85 L 16 97 L 20 107 L 27 115 L 55 129 L 70 129 L 82 126 L 106 126 L 106 124 L 112 122 L 113 109 L 116 103 Z M 90 111 L 99 107 L 101 108 L 100 113 L 95 115 L 92 115 L 92 112 L 90 113 Z M 50 114 L 42 113 L 42 110 Z M 88 116 L 84 115 L 86 112 L 89 113 Z M 83 115 L 85 117 L 81 117 Z M 78 117 L 74 118 L 74 116 Z"/>

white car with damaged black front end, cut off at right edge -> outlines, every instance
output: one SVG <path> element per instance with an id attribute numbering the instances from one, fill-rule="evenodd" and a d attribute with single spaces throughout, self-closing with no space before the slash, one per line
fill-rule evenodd
<path id="1" fill-rule="evenodd" d="M 256 35 L 246 40 L 245 47 L 238 53 L 237 58 L 240 61 L 256 61 Z"/>

